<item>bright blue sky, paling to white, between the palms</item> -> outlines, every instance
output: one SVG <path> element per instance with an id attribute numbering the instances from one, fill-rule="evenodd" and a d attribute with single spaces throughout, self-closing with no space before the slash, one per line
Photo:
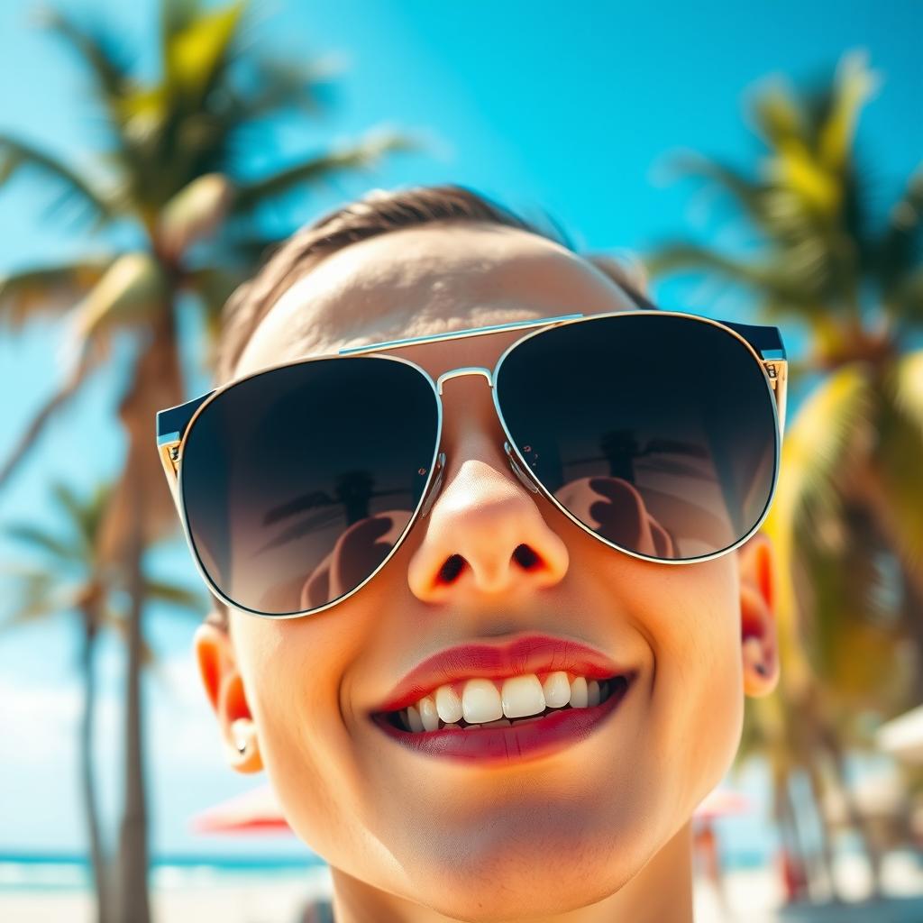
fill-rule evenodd
<path id="1" fill-rule="evenodd" d="M 150 72 L 151 0 L 66 6 L 117 23 L 126 43 L 141 49 L 138 67 Z M 91 163 L 96 115 L 84 102 L 81 76 L 54 41 L 30 26 L 31 8 L 22 0 L 0 5 L 0 131 Z M 278 162 L 356 138 L 372 126 L 399 127 L 430 142 L 426 153 L 394 158 L 371 176 L 342 179 L 306 196 L 297 203 L 300 220 L 369 186 L 450 181 L 527 217 L 546 210 L 579 249 L 643 251 L 674 234 L 745 246 L 741 227 L 710 210 L 692 186 L 665 183 L 666 155 L 692 149 L 751 163 L 760 149 L 743 118 L 747 94 L 773 73 L 822 76 L 850 49 L 867 49 L 884 78 L 864 114 L 859 143 L 883 209 L 923 154 L 923 61 L 912 41 L 921 26 L 923 7 L 910 0 L 754 3 L 746 18 L 741 7 L 711 0 L 566 7 L 276 0 L 254 7 L 252 37 L 282 54 L 332 54 L 343 68 L 330 117 L 323 124 L 284 126 L 272 155 Z M 261 161 L 269 166 L 270 152 L 256 153 L 255 170 Z M 82 229 L 56 227 L 47 217 L 49 200 L 30 183 L 0 191 L 0 273 L 102 246 Z M 656 282 L 653 294 L 667 308 L 716 318 L 747 311 L 733 294 L 693 276 Z M 790 334 L 794 352 L 797 331 Z M 54 325 L 47 322 L 15 340 L 0 333 L 3 457 L 54 389 L 56 346 Z M 53 521 L 49 478 L 87 486 L 119 470 L 124 445 L 111 421 L 129 359 L 125 350 L 116 351 L 112 368 L 92 379 L 72 413 L 42 438 L 28 470 L 0 496 L 0 524 Z M 190 365 L 190 396 L 207 387 Z M 0 559 L 13 554 L 0 538 Z M 184 547 L 162 565 L 177 579 L 197 580 Z M 300 851 L 287 839 L 254 844 L 187 832 L 190 814 L 246 790 L 254 779 L 222 763 L 217 730 L 192 672 L 194 621 L 154 610 L 148 624 L 162 656 L 162 678 L 146 689 L 155 852 Z M 63 619 L 0 635 L 0 735 L 14 755 L 0 761 L 0 853 L 82 846 L 75 640 Z M 109 741 L 120 736 L 122 714 L 117 643 L 104 646 L 101 668 L 99 763 L 103 806 L 114 818 L 120 763 Z"/>

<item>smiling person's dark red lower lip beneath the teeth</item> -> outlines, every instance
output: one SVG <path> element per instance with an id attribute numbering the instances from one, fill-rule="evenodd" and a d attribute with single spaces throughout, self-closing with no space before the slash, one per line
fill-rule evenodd
<path id="1" fill-rule="evenodd" d="M 414 734 L 391 725 L 384 714 L 373 715 L 372 720 L 402 746 L 426 756 L 479 765 L 518 763 L 557 753 L 589 737 L 616 711 L 634 686 L 635 678 L 629 676 L 628 686 L 618 689 L 599 705 L 553 712 L 522 725 L 467 730 L 442 728 Z"/>

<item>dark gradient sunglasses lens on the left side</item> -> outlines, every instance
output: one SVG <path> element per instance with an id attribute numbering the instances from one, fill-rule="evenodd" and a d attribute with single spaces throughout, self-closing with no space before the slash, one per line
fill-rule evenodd
<path id="1" fill-rule="evenodd" d="M 268 615 L 349 593 L 406 531 L 437 433 L 431 383 L 384 357 L 284 366 L 222 391 L 180 466 L 202 567 L 235 605 Z"/>

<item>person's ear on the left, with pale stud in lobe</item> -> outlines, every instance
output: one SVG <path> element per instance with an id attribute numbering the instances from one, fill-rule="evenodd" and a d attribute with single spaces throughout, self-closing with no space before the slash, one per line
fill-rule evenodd
<path id="1" fill-rule="evenodd" d="M 257 725 L 246 702 L 230 632 L 205 622 L 196 629 L 193 649 L 202 685 L 221 726 L 229 765 L 238 773 L 258 773 L 263 761 Z"/>

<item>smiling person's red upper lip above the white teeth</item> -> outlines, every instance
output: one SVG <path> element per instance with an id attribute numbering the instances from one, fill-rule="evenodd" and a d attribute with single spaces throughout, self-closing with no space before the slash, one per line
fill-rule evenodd
<path id="1" fill-rule="evenodd" d="M 463 644 L 427 657 L 391 689 L 373 713 L 397 712 L 457 679 L 502 679 L 525 673 L 566 670 L 588 679 L 628 672 L 609 657 L 572 638 L 529 633 L 506 644 Z"/>

